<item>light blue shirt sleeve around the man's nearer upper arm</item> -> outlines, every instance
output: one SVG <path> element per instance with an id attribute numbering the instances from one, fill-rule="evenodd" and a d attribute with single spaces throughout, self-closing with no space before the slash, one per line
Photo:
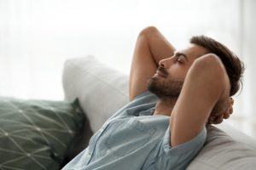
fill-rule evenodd
<path id="1" fill-rule="evenodd" d="M 166 130 L 160 146 L 160 155 L 157 156 L 156 167 L 166 165 L 166 168 L 171 169 L 185 169 L 189 166 L 195 156 L 199 153 L 207 139 L 207 128 L 203 127 L 201 132 L 198 133 L 193 139 L 170 146 L 170 127 Z"/>

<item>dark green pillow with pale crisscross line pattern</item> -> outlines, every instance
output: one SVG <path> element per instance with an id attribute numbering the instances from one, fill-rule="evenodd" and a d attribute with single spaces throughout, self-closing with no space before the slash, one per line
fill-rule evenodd
<path id="1" fill-rule="evenodd" d="M 83 119 L 78 100 L 0 98 L 1 169 L 60 169 Z"/>

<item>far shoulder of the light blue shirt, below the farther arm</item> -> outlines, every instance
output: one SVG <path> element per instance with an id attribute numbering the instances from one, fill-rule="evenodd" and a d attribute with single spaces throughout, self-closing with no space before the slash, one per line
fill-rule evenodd
<path id="1" fill-rule="evenodd" d="M 145 111 L 150 108 L 153 108 L 156 104 L 157 96 L 151 92 L 144 91 L 141 94 L 138 94 L 130 103 L 122 107 L 119 111 L 113 114 L 113 117 L 116 116 L 138 116 L 140 111 Z"/>

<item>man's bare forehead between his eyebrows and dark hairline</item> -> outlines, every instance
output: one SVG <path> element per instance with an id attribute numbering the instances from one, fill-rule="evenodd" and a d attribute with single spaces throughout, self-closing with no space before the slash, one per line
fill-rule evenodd
<path id="1" fill-rule="evenodd" d="M 177 50 L 176 53 L 186 54 L 189 59 L 197 59 L 204 54 L 208 54 L 207 48 L 203 48 L 196 44 L 189 44 L 187 48 L 183 48 L 181 50 Z"/>

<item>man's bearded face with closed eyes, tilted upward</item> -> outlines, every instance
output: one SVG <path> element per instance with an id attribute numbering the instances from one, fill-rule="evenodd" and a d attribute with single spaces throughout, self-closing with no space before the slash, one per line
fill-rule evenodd
<path id="1" fill-rule="evenodd" d="M 206 48 L 190 44 L 189 48 L 178 50 L 172 57 L 160 60 L 159 68 L 148 80 L 148 90 L 160 99 L 177 98 L 190 66 L 204 54 L 208 54 Z"/>

